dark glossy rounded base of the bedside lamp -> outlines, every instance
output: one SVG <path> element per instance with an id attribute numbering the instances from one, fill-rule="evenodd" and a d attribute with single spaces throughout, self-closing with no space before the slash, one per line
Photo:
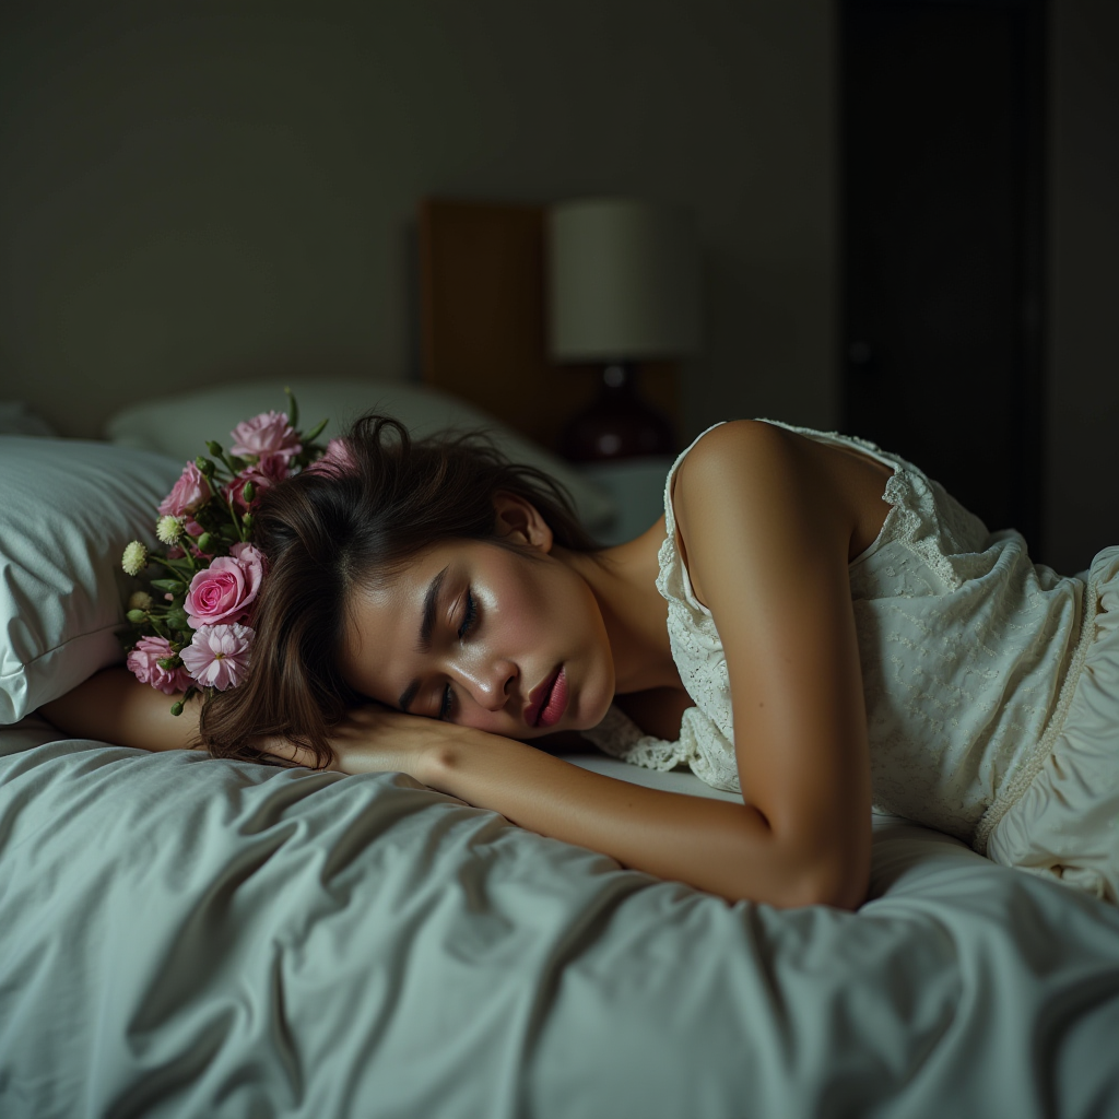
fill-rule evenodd
<path id="1" fill-rule="evenodd" d="M 676 453 L 671 423 L 641 399 L 636 379 L 628 361 L 603 368 L 598 398 L 560 436 L 560 451 L 566 459 L 606 462 Z"/>

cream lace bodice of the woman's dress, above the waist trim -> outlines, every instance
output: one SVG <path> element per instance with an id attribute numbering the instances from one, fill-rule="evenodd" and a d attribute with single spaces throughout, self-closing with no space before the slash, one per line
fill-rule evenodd
<path id="1" fill-rule="evenodd" d="M 894 471 L 884 491 L 891 509 L 882 530 L 849 565 L 875 809 L 986 854 L 990 831 L 1032 788 L 1061 733 L 1098 596 L 1085 595 L 1082 580 L 1032 563 L 1021 534 L 989 533 L 897 455 L 836 433 L 778 426 L 858 451 Z M 687 764 L 709 784 L 739 790 L 722 641 L 676 546 L 671 487 L 687 453 L 665 488 L 657 586 L 668 602 L 673 657 L 696 706 L 685 714 L 677 742 L 642 735 L 617 708 L 586 736 L 634 764 Z M 1108 717 L 1115 742 L 1119 687 L 1111 692 Z M 999 847 L 1000 861 L 1007 850 Z"/>

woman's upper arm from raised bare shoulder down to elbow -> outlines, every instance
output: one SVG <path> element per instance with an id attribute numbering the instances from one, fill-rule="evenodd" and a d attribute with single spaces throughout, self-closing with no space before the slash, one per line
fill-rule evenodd
<path id="1" fill-rule="evenodd" d="M 693 589 L 723 640 L 742 788 L 825 895 L 865 896 L 871 763 L 848 551 L 859 515 L 801 436 L 740 421 L 681 464 Z"/>

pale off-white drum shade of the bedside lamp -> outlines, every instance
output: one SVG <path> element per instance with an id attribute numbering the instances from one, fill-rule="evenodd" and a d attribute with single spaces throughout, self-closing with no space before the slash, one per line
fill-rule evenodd
<path id="1" fill-rule="evenodd" d="M 548 321 L 556 361 L 684 357 L 699 345 L 699 267 L 687 216 L 584 199 L 547 216 Z"/>

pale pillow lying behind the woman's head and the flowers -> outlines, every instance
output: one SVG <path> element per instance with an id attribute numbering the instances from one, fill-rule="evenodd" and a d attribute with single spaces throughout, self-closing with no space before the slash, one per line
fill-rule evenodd
<path id="1" fill-rule="evenodd" d="M 261 380 L 218 385 L 135 404 L 110 419 L 105 436 L 122 446 L 161 451 L 185 462 L 205 453 L 208 439 L 226 443 L 229 432 L 242 420 L 269 408 L 283 411 L 286 407 L 284 384 Z M 426 385 L 386 380 L 317 380 L 309 377 L 286 384 L 299 404 L 299 425 L 303 431 L 329 419 L 327 435 L 339 435 L 370 408 L 399 420 L 415 435 L 445 427 L 483 427 L 511 461 L 536 467 L 566 487 L 587 529 L 602 528 L 617 513 L 610 495 L 568 463 L 488 413 L 446 393 Z"/>

